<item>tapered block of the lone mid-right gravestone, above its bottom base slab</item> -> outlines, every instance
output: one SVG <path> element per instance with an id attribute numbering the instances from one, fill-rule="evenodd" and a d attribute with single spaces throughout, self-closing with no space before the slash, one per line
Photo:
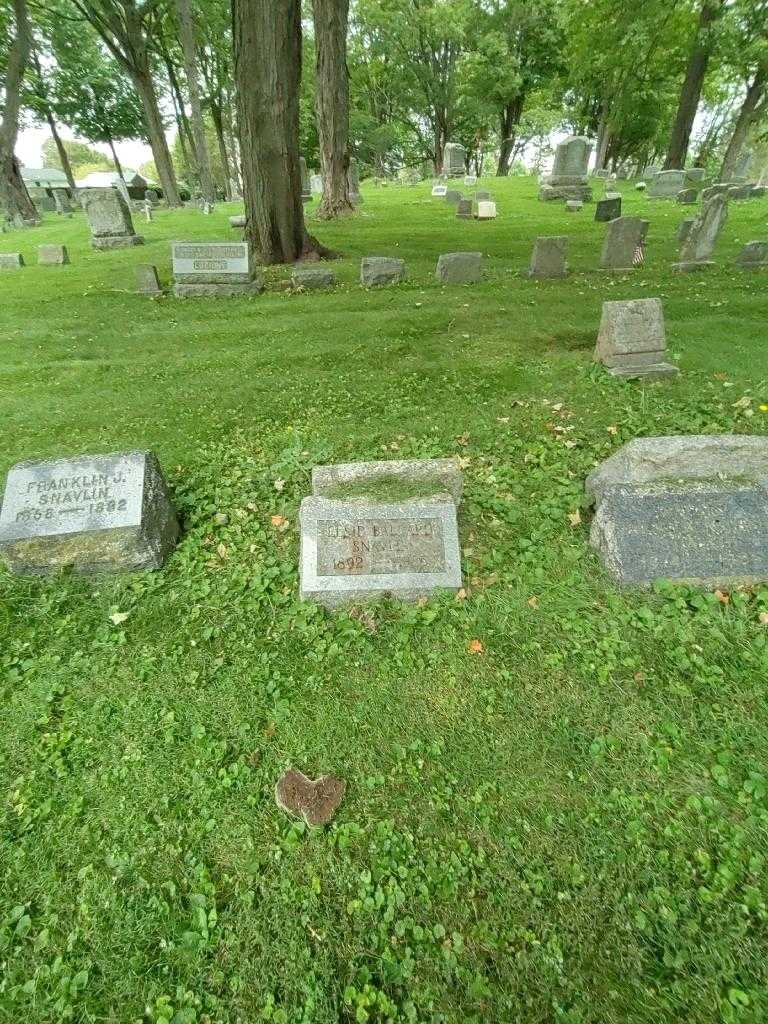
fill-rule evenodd
<path id="1" fill-rule="evenodd" d="M 660 299 L 620 299 L 603 302 L 595 360 L 606 367 L 637 366 L 640 353 L 660 362 L 667 351 Z"/>

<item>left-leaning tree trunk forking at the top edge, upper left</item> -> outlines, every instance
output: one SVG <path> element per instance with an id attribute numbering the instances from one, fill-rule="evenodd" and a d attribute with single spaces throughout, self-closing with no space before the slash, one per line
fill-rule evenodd
<path id="1" fill-rule="evenodd" d="M 155 166 L 169 206 L 181 199 L 165 137 L 158 93 L 152 74 L 150 39 L 159 16 L 155 0 L 72 0 L 104 42 L 113 56 L 125 68 L 141 100 L 146 135 Z"/>

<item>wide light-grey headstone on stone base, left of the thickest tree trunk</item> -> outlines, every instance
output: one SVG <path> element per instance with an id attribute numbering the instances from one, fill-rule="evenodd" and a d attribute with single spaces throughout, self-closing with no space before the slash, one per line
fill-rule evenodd
<path id="1" fill-rule="evenodd" d="M 246 242 L 173 242 L 173 294 L 256 295 L 264 276 L 251 266 Z"/>

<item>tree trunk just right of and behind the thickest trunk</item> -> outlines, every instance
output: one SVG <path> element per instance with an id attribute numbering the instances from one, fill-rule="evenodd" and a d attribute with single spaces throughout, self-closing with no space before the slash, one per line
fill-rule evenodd
<path id="1" fill-rule="evenodd" d="M 312 0 L 316 51 L 317 133 L 323 199 L 317 216 L 330 220 L 351 213 L 349 202 L 349 0 Z"/>

